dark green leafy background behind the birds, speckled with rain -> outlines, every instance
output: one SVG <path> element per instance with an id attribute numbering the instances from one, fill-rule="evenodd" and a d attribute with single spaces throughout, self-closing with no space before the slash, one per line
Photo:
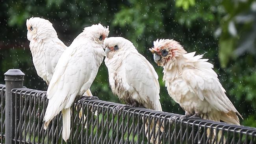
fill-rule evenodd
<path id="1" fill-rule="evenodd" d="M 70 45 L 85 26 L 109 25 L 109 36 L 122 36 L 134 42 L 159 75 L 163 111 L 184 114 L 167 94 L 162 68 L 152 60 L 148 48 L 157 38 L 179 41 L 188 52 L 197 51 L 214 64 L 227 95 L 244 120 L 256 126 L 256 2 L 247 0 L 2 0 L 0 4 L 0 83 L 4 72 L 19 68 L 24 85 L 46 90 L 36 74 L 26 39 L 26 19 L 50 20 L 59 38 Z M 101 100 L 119 102 L 108 84 L 104 63 L 91 86 Z"/>

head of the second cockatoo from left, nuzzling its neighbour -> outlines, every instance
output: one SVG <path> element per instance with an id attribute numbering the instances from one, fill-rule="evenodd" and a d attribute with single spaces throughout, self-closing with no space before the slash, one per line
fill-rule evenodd
<path id="1" fill-rule="evenodd" d="M 83 33 L 94 42 L 103 46 L 104 39 L 106 39 L 109 34 L 109 26 L 106 28 L 101 24 L 93 24 L 92 26 L 85 27 Z"/>

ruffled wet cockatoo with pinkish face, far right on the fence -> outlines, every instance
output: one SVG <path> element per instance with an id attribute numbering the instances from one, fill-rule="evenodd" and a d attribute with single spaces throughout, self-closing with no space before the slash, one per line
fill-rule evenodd
<path id="1" fill-rule="evenodd" d="M 173 100 L 186 111 L 185 116 L 224 121 L 239 125 L 239 115 L 225 94 L 213 65 L 203 55 L 187 53 L 176 41 L 154 41 L 155 62 L 163 66 L 163 80 Z"/>

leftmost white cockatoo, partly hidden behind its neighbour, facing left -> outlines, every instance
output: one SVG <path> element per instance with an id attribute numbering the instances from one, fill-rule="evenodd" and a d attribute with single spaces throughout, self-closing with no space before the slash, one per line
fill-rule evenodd
<path id="1" fill-rule="evenodd" d="M 56 30 L 49 20 L 39 17 L 27 19 L 27 38 L 30 41 L 33 64 L 37 75 L 49 85 L 59 57 L 67 46 L 58 38 Z M 93 96 L 90 89 L 85 93 Z"/>

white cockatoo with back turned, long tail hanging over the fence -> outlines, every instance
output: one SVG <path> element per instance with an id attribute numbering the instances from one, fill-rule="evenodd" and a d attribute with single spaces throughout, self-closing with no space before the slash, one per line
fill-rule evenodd
<path id="1" fill-rule="evenodd" d="M 101 24 L 84 28 L 63 52 L 56 65 L 46 95 L 49 99 L 44 129 L 60 111 L 62 112 L 62 138 L 70 135 L 70 106 L 76 96 L 89 89 L 104 58 L 103 41 L 108 37 L 108 28 Z"/>

